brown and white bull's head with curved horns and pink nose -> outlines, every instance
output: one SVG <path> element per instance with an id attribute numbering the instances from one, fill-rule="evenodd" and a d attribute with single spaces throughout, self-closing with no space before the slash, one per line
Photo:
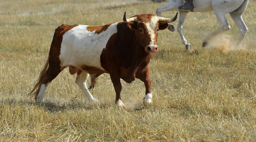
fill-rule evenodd
<path id="1" fill-rule="evenodd" d="M 157 32 L 166 29 L 169 26 L 168 23 L 174 22 L 177 19 L 177 14 L 171 19 L 158 17 L 155 14 L 140 14 L 126 19 L 125 12 L 123 21 L 131 30 L 135 31 L 136 38 L 145 51 L 154 53 L 157 52 Z"/>

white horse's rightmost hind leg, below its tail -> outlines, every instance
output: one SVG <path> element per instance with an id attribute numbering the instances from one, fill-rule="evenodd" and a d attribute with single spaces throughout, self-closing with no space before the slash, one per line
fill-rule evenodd
<path id="1" fill-rule="evenodd" d="M 240 37 L 236 43 L 236 46 L 240 46 L 241 43 L 243 42 L 244 40 L 244 37 L 248 31 L 248 28 L 247 26 L 245 25 L 244 23 L 244 20 L 243 20 L 243 17 L 241 14 L 236 14 L 236 13 L 233 13 L 231 12 L 230 13 L 230 16 L 232 17 L 232 19 L 235 21 L 236 23 L 236 26 L 238 26 L 239 30 L 240 30 Z"/>

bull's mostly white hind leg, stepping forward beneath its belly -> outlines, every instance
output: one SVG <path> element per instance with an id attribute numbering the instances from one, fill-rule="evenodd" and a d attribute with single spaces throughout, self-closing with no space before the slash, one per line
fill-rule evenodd
<path id="1" fill-rule="evenodd" d="M 81 73 L 80 73 L 81 72 Z M 86 81 L 89 78 L 89 73 L 84 72 L 84 71 L 79 71 L 77 73 L 76 76 L 76 84 L 78 84 L 79 88 L 83 91 L 83 93 L 85 94 L 85 96 L 87 97 L 87 99 L 89 101 L 98 101 L 97 99 L 95 99 L 91 93 L 89 92 L 87 85 L 86 85 Z"/>

